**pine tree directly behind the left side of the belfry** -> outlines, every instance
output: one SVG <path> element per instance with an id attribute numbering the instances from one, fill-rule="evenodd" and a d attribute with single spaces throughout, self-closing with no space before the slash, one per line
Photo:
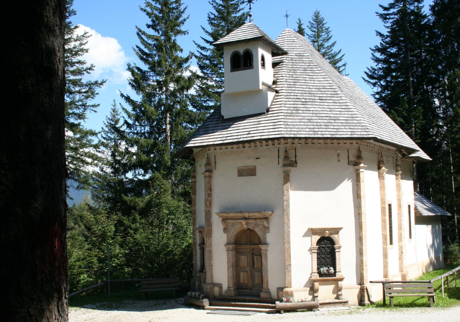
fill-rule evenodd
<path id="1" fill-rule="evenodd" d="M 224 90 L 224 51 L 212 44 L 242 26 L 248 17 L 240 0 L 211 0 L 209 4 L 213 7 L 213 11 L 207 13 L 209 30 L 201 26 L 206 34 L 201 37 L 204 45 L 194 42 L 201 75 L 196 84 L 193 107 L 202 112 L 202 117 L 219 105 L 220 92 Z"/>

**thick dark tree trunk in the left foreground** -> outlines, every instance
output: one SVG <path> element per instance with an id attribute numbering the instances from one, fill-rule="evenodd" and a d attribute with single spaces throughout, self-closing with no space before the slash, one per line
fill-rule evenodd
<path id="1" fill-rule="evenodd" d="M 65 0 L 3 6 L 15 23 L 2 51 L 1 320 L 68 321 Z M 10 25 L 2 21 L 4 29 Z"/>

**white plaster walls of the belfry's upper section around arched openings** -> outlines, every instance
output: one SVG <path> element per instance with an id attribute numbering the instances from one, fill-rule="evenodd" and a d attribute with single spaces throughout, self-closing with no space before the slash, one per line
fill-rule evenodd
<path id="1" fill-rule="evenodd" d="M 252 41 L 242 44 L 224 46 L 224 89 L 227 94 L 262 89 L 262 82 L 260 80 L 259 72 L 259 44 L 259 41 Z M 230 72 L 230 56 L 232 52 L 239 51 L 242 55 L 245 49 L 250 49 L 253 52 L 254 68 Z M 265 60 L 267 60 L 267 56 L 265 56 Z"/>

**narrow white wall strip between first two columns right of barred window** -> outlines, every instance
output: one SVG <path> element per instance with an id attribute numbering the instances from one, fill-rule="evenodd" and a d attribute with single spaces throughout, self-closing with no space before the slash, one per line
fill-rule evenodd
<path id="1" fill-rule="evenodd" d="M 364 190 L 366 197 L 366 232 L 368 256 L 368 280 L 383 278 L 382 214 L 380 209 L 380 181 L 378 162 L 380 152 L 362 149 Z"/>

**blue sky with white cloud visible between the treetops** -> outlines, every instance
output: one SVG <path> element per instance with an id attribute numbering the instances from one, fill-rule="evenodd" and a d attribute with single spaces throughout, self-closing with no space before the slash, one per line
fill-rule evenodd
<path id="1" fill-rule="evenodd" d="M 184 28 L 189 34 L 178 39 L 184 52 L 195 51 L 193 40 L 200 42 L 204 36 L 200 26 L 207 27 L 207 12 L 211 6 L 207 0 L 183 0 L 188 6 L 190 18 Z M 300 17 L 306 25 L 316 9 L 328 22 L 337 41 L 336 49 L 342 49 L 347 62 L 346 72 L 369 96 L 372 89 L 364 83 L 362 77 L 366 67 L 372 66 L 369 47 L 379 43 L 375 30 L 384 31 L 384 27 L 375 11 L 380 11 L 380 4 L 388 0 L 257 0 L 253 5 L 253 22 L 276 39 L 286 28 L 286 10 L 288 28 L 296 28 Z M 431 0 L 425 1 L 425 10 Z M 115 98 L 121 102 L 118 91 L 132 94 L 127 86 L 126 64 L 137 62 L 132 46 L 138 44 L 135 26 L 145 29 L 147 17 L 139 10 L 143 0 L 75 0 L 77 14 L 72 17 L 74 24 L 81 24 L 80 31 L 89 31 L 93 36 L 88 42 L 89 53 L 86 60 L 93 63 L 95 71 L 88 79 L 108 79 L 95 99 L 100 104 L 98 113 L 91 113 L 86 127 L 100 130 L 110 105 Z M 192 67 L 195 62 L 192 61 Z"/>

